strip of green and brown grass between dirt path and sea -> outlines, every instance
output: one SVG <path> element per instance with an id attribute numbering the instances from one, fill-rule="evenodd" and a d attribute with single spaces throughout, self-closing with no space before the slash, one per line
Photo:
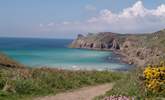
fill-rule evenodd
<path id="1" fill-rule="evenodd" d="M 109 71 L 68 71 L 49 68 L 1 68 L 0 100 L 18 100 L 56 94 L 83 86 L 121 79 L 123 73 Z"/>

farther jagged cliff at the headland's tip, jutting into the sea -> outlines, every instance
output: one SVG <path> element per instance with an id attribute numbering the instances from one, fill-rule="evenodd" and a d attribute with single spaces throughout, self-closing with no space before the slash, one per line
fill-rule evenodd
<path id="1" fill-rule="evenodd" d="M 105 32 L 98 34 L 88 34 L 87 36 L 78 35 L 70 47 L 71 48 L 86 48 L 97 50 L 114 50 L 120 49 L 117 34 Z"/>

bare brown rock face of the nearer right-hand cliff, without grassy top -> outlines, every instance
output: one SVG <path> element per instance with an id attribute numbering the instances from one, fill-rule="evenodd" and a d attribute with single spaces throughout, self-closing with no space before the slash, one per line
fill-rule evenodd
<path id="1" fill-rule="evenodd" d="M 120 53 L 124 55 L 123 61 L 138 66 L 146 66 L 147 64 L 158 64 L 164 59 L 164 53 L 159 46 L 149 47 L 150 42 L 140 39 L 141 37 L 134 37 L 135 40 L 128 38 L 120 50 Z"/>

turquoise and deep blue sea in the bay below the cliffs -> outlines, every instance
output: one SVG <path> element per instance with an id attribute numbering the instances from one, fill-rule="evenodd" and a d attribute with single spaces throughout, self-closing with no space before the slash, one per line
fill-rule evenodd
<path id="1" fill-rule="evenodd" d="M 68 48 L 72 39 L 0 38 L 0 52 L 28 67 L 128 70 L 111 51 Z"/>

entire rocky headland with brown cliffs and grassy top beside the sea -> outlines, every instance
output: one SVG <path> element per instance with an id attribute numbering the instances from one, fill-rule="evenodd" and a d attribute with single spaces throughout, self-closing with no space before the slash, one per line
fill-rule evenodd
<path id="1" fill-rule="evenodd" d="M 137 66 L 158 64 L 164 55 L 165 29 L 145 34 L 112 32 L 81 34 L 69 45 L 71 48 L 110 50 L 122 56 L 122 61 Z"/>

